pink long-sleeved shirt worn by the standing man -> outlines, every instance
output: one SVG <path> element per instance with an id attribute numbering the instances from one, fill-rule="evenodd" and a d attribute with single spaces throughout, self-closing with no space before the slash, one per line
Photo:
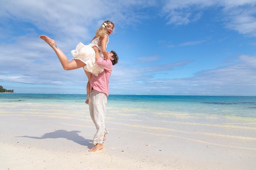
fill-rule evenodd
<path id="1" fill-rule="evenodd" d="M 99 58 L 97 61 L 98 66 L 102 67 L 104 70 L 98 76 L 92 74 L 91 77 L 91 89 L 97 90 L 99 92 L 105 93 L 108 97 L 108 82 L 111 72 L 113 70 L 113 65 L 110 59 Z"/>

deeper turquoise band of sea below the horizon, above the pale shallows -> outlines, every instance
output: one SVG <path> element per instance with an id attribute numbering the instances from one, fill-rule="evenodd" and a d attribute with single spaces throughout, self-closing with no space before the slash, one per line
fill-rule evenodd
<path id="1" fill-rule="evenodd" d="M 84 105 L 86 95 L 1 93 L 1 103 Z M 256 118 L 256 96 L 109 95 L 108 108 L 151 114 L 188 113 Z"/>

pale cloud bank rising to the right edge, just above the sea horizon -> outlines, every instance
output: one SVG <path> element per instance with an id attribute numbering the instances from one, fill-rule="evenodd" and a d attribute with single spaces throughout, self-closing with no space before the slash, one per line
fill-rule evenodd
<path id="1" fill-rule="evenodd" d="M 256 56 L 242 55 L 239 59 L 238 64 L 200 71 L 195 77 L 169 80 L 169 84 L 180 93 L 195 95 L 256 95 Z"/>

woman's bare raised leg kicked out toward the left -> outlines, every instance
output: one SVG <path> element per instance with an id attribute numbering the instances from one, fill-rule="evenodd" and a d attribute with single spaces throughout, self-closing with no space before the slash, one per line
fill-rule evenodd
<path id="1" fill-rule="evenodd" d="M 46 35 L 40 35 L 39 38 L 44 40 L 51 46 L 51 48 L 53 48 L 64 70 L 74 70 L 85 66 L 85 63 L 78 59 L 74 59 L 71 62 L 69 62 L 67 56 L 61 51 L 61 49 L 57 47 L 55 40 L 47 37 Z"/>

